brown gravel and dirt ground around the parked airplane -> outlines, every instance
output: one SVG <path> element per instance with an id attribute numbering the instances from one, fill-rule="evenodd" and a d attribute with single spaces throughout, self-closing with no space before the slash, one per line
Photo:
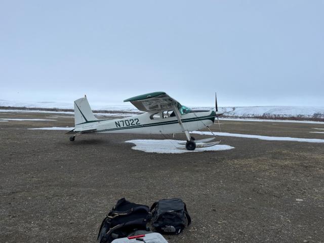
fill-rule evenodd
<path id="1" fill-rule="evenodd" d="M 121 197 L 182 198 L 192 225 L 170 243 L 324 242 L 324 143 L 220 137 L 231 150 L 132 149 L 141 135 L 82 135 L 71 114 L 0 112 L 0 242 L 95 242 Z M 222 132 L 324 139 L 324 124 L 221 120 Z M 218 126 L 212 127 L 218 131 Z M 196 139 L 207 136 L 194 135 Z M 177 136 L 176 139 L 184 139 Z"/>

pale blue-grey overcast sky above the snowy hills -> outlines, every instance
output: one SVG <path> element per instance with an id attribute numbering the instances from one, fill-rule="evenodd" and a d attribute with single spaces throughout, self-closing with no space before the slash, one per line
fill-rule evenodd
<path id="1" fill-rule="evenodd" d="M 0 99 L 324 105 L 324 1 L 1 1 Z"/>

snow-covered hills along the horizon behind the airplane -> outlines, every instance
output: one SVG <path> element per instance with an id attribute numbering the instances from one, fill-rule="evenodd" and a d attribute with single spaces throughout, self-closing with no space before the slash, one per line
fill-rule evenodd
<path id="1" fill-rule="evenodd" d="M 0 106 L 27 107 L 27 108 L 58 108 L 74 109 L 73 103 L 64 102 L 14 102 L 0 100 Z M 131 104 L 103 105 L 92 103 L 93 110 L 139 112 Z M 193 107 L 193 109 L 215 109 L 214 107 Z M 278 118 L 278 117 L 300 117 L 300 118 L 324 118 L 324 106 L 244 106 L 244 107 L 219 107 L 219 111 L 226 112 L 225 117 L 240 118 Z"/>

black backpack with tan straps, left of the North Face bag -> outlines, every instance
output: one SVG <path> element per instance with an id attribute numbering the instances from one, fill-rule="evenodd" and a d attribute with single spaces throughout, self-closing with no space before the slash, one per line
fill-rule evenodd
<path id="1" fill-rule="evenodd" d="M 135 230 L 147 230 L 146 223 L 149 219 L 148 206 L 121 198 L 102 221 L 97 240 L 100 243 L 110 243 L 116 238 L 127 237 Z"/>

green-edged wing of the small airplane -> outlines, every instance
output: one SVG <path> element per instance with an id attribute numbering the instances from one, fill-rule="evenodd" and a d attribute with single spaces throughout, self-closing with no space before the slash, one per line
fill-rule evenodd
<path id="1" fill-rule="evenodd" d="M 179 102 L 171 98 L 165 92 L 153 92 L 144 95 L 135 96 L 124 100 L 130 101 L 137 109 L 141 111 L 155 111 L 173 109 L 174 105 L 178 106 Z"/>

